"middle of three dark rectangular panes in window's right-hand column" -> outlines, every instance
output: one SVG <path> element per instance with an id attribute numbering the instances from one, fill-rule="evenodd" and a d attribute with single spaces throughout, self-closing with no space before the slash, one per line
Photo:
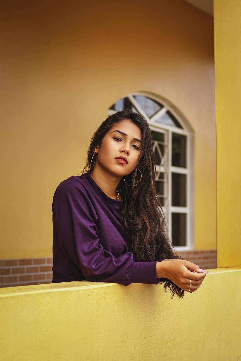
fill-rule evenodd
<path id="1" fill-rule="evenodd" d="M 186 207 L 186 174 L 172 173 L 172 205 Z"/>

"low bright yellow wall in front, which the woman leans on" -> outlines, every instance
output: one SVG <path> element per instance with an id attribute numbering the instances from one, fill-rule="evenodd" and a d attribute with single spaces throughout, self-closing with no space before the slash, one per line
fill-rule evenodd
<path id="1" fill-rule="evenodd" d="M 241 269 L 212 270 L 171 300 L 161 285 L 68 282 L 3 288 L 3 360 L 238 360 Z"/>

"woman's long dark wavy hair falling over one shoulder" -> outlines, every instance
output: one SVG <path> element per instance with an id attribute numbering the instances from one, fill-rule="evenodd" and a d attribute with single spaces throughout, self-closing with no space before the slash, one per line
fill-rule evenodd
<path id="1" fill-rule="evenodd" d="M 151 130 L 145 118 L 129 109 L 121 110 L 107 118 L 90 140 L 87 162 L 82 169 L 82 173 L 85 173 L 93 166 L 97 156 L 95 154 L 92 159 L 95 148 L 97 145 L 102 144 L 106 133 L 115 123 L 126 119 L 137 125 L 142 134 L 142 147 L 137 166 L 132 173 L 125 176 L 126 183 L 136 184 L 140 179 L 140 170 L 142 173 L 141 182 L 136 186 L 129 187 L 122 178 L 117 188 L 123 199 L 121 206 L 122 222 L 132 237 L 134 261 L 144 262 L 158 261 L 162 258 L 181 258 L 174 253 L 167 235 L 163 209 L 156 194 L 155 155 L 152 148 Z M 165 292 L 168 289 L 171 291 L 172 298 L 175 294 L 179 297 L 184 296 L 184 290 L 177 287 L 171 280 L 167 279 L 161 283 L 164 283 Z"/>

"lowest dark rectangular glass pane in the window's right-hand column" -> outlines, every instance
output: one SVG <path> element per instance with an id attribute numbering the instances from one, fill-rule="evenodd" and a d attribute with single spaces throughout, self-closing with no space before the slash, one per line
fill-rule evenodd
<path id="1" fill-rule="evenodd" d="M 174 246 L 186 245 L 185 213 L 172 213 L 172 244 Z"/>

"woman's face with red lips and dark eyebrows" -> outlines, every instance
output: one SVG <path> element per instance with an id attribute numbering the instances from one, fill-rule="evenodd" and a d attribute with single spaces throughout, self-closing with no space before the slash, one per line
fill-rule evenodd
<path id="1" fill-rule="evenodd" d="M 141 152 L 142 135 L 137 125 L 126 119 L 115 123 L 95 148 L 95 166 L 99 171 L 123 177 L 137 165 Z"/>

